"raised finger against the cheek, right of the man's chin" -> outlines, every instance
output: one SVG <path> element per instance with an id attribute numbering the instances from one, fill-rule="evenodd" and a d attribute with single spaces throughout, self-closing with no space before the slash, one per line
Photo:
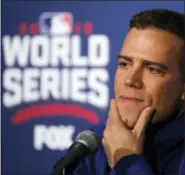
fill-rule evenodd
<path id="1" fill-rule="evenodd" d="M 149 121 L 153 118 L 155 112 L 156 110 L 154 110 L 152 107 L 147 107 L 146 109 L 143 110 L 133 131 L 134 133 L 137 134 L 137 136 L 144 135 L 145 129 Z"/>

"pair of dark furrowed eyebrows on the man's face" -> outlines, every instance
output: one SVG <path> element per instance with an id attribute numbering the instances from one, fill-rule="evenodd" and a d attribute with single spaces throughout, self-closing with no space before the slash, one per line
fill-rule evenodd
<path id="1" fill-rule="evenodd" d="M 118 55 L 118 59 L 124 59 L 124 60 L 127 60 L 129 62 L 133 61 L 132 57 L 126 56 L 126 55 Z M 154 61 L 149 61 L 149 60 L 146 60 L 146 59 L 142 59 L 142 60 L 143 60 L 145 65 L 157 65 L 157 66 L 160 66 L 162 69 L 164 69 L 166 71 L 168 70 L 168 67 L 165 64 L 161 64 L 161 63 L 154 62 Z"/>

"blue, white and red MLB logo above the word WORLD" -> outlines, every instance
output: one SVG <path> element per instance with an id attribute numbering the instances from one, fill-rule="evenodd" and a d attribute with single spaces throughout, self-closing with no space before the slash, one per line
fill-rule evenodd
<path id="1" fill-rule="evenodd" d="M 39 17 L 41 34 L 69 35 L 73 31 L 73 16 L 70 12 L 44 12 Z"/>

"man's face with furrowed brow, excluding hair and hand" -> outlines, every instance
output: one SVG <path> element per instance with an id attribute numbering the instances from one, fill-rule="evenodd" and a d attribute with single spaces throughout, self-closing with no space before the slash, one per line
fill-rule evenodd
<path id="1" fill-rule="evenodd" d="M 184 84 L 179 55 L 184 41 L 166 31 L 131 29 L 115 74 L 115 98 L 121 118 L 133 128 L 142 110 L 153 106 L 153 123 L 165 120 L 180 103 Z"/>

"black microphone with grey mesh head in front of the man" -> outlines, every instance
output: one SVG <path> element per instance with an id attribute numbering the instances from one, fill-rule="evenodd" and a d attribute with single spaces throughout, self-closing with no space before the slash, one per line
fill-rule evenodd
<path id="1" fill-rule="evenodd" d="M 83 159 L 87 154 L 95 153 L 98 146 L 99 139 L 93 131 L 86 130 L 80 132 L 75 142 L 68 149 L 67 154 L 55 164 L 52 175 L 65 174 L 69 169 L 72 171 L 78 161 Z"/>

